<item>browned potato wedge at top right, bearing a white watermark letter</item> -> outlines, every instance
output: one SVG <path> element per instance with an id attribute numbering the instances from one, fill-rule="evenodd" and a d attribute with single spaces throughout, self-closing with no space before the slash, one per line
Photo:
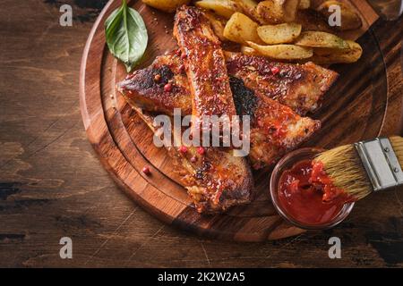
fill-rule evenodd
<path id="1" fill-rule="evenodd" d="M 339 1 L 326 1 L 319 5 L 316 9 L 318 12 L 322 13 L 329 19 L 330 15 L 334 13 L 331 9 L 329 11 L 330 6 L 339 5 L 340 7 L 340 26 L 334 26 L 339 30 L 347 30 L 347 29 L 358 29 L 363 25 L 360 16 L 354 11 L 352 7 L 347 4 L 341 3 Z"/>

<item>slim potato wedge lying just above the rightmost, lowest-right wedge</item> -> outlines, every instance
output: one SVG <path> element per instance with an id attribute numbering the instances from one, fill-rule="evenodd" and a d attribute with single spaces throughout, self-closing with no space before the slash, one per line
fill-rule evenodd
<path id="1" fill-rule="evenodd" d="M 321 31 L 302 32 L 294 44 L 296 46 L 348 48 L 348 44 L 344 39 Z"/>

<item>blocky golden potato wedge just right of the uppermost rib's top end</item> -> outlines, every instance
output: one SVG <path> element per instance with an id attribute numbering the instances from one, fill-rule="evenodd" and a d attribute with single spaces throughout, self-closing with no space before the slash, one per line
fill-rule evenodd
<path id="1" fill-rule="evenodd" d="M 258 27 L 258 23 L 248 16 L 236 12 L 227 21 L 227 25 L 224 29 L 224 37 L 243 45 L 246 45 L 246 41 L 262 43 L 256 31 Z"/>

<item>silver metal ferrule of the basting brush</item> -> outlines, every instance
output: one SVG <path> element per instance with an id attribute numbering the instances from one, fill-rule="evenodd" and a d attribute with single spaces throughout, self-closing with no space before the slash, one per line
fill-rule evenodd
<path id="1" fill-rule="evenodd" d="M 361 141 L 355 147 L 373 185 L 373 191 L 403 184 L 403 172 L 389 139 Z"/>

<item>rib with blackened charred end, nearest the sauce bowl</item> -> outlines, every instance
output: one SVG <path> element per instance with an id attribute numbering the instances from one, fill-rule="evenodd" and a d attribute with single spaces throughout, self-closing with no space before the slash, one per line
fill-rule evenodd
<path id="1" fill-rule="evenodd" d="M 251 116 L 249 159 L 254 169 L 275 164 L 321 128 L 320 121 L 301 117 L 260 91 L 246 88 L 243 80 L 231 78 L 231 88 L 238 112 Z"/>

